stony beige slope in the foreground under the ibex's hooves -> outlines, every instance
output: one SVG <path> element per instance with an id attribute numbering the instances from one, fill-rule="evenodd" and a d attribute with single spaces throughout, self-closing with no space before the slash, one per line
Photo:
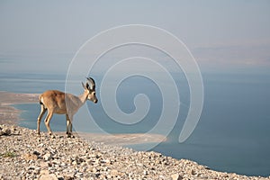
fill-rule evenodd
<path id="1" fill-rule="evenodd" d="M 0 179 L 270 179 L 11 125 L 0 125 L 0 144 Z"/>

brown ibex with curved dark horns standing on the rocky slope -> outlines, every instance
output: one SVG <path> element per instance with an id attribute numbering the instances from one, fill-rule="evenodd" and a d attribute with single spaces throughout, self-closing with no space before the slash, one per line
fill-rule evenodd
<path id="1" fill-rule="evenodd" d="M 40 121 L 45 112 L 47 112 L 47 116 L 45 118 L 45 125 L 49 132 L 49 135 L 52 135 L 52 132 L 49 127 L 49 121 L 52 117 L 53 113 L 66 114 L 67 119 L 67 137 L 73 137 L 72 135 L 72 121 L 74 114 L 78 111 L 78 109 L 86 102 L 86 100 L 93 101 L 97 103 L 97 98 L 95 96 L 95 83 L 94 79 L 91 77 L 86 77 L 87 81 L 84 85 L 82 83 L 85 91 L 83 94 L 78 96 L 74 94 L 67 94 L 60 92 L 58 90 L 49 90 L 45 91 L 43 94 L 40 94 L 39 100 L 41 105 L 40 115 L 37 121 L 37 131 L 40 135 Z M 90 85 L 89 85 L 90 84 Z"/>

